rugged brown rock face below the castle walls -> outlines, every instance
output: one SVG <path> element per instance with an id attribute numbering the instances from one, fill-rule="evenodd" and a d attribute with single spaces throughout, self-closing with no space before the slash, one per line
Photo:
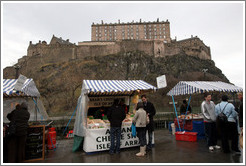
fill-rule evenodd
<path id="1" fill-rule="evenodd" d="M 170 97 L 166 93 L 181 80 L 229 82 L 212 60 L 202 60 L 185 53 L 153 57 L 134 51 L 47 64 L 42 62 L 42 57 L 32 56 L 18 65 L 21 66 L 21 74 L 34 79 L 49 114 L 72 112 L 84 79 L 141 79 L 156 86 L 156 77 L 165 74 L 168 86 L 149 95 L 150 100 L 161 107 L 168 105 Z M 202 69 L 208 69 L 205 75 Z M 15 75 L 11 67 L 3 71 L 6 79 Z"/>

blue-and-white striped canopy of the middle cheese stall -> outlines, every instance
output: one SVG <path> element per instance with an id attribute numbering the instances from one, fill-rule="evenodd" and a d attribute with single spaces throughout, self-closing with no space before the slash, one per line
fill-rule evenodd
<path id="1" fill-rule="evenodd" d="M 157 89 L 142 80 L 84 80 L 83 86 L 88 95 L 132 95 L 136 90 Z"/>

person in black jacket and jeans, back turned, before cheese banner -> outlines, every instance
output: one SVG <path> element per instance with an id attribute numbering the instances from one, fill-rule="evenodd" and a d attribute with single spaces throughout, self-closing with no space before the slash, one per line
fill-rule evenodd
<path id="1" fill-rule="evenodd" d="M 120 137 L 122 121 L 126 118 L 126 114 L 122 106 L 119 105 L 119 100 L 115 99 L 114 104 L 107 112 L 107 117 L 110 122 L 110 149 L 109 153 L 120 153 Z"/>

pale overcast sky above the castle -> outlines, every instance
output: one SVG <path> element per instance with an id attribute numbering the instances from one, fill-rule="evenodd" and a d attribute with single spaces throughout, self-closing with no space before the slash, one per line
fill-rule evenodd
<path id="1" fill-rule="evenodd" d="M 198 36 L 231 83 L 244 87 L 244 2 L 1 2 L 1 67 L 27 54 L 29 42 L 50 42 L 52 35 L 78 44 L 91 40 L 91 24 L 170 22 L 171 38 Z"/>

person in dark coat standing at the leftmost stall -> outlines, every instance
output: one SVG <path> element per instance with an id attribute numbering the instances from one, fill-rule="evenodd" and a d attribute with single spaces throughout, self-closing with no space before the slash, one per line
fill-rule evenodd
<path id="1" fill-rule="evenodd" d="M 8 142 L 8 162 L 21 163 L 25 160 L 25 145 L 27 138 L 28 120 L 30 113 L 26 102 L 16 105 L 16 109 L 7 115 L 10 123 L 15 123 L 15 134 Z"/>

